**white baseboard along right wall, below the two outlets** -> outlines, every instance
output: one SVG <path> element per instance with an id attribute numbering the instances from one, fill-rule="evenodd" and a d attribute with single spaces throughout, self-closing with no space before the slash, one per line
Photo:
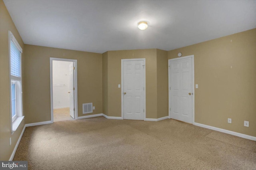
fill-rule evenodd
<path id="1" fill-rule="evenodd" d="M 194 125 L 198 126 L 198 127 L 203 127 L 203 128 L 208 128 L 211 130 L 216 130 L 218 132 L 223 132 L 223 133 L 227 133 L 227 134 L 232 134 L 234 136 L 239 136 L 241 138 L 246 138 L 246 139 L 250 139 L 250 140 L 255 140 L 256 141 L 256 137 L 255 136 L 250 136 L 247 134 L 242 134 L 242 133 L 238 133 L 238 132 L 233 132 L 230 130 L 226 130 L 226 129 L 222 129 L 222 128 L 217 128 L 217 127 L 211 127 L 208 125 L 204 125 L 204 124 L 200 124 L 200 123 L 194 123 Z"/>

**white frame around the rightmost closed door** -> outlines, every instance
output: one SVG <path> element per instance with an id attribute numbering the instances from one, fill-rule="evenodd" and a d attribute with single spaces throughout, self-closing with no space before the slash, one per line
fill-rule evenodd
<path id="1" fill-rule="evenodd" d="M 185 59 L 185 58 L 192 58 L 192 124 L 194 125 L 195 123 L 195 82 L 194 82 L 194 78 L 195 78 L 195 75 L 194 75 L 194 55 L 188 55 L 188 56 L 185 56 L 185 57 L 179 57 L 179 58 L 174 58 L 174 59 L 168 59 L 168 83 L 169 83 L 169 119 L 171 119 L 171 111 L 170 111 L 170 108 L 171 108 L 171 100 L 170 100 L 170 88 L 171 88 L 171 81 L 170 81 L 170 62 L 171 61 L 174 61 L 174 60 L 178 60 L 178 59 Z"/>

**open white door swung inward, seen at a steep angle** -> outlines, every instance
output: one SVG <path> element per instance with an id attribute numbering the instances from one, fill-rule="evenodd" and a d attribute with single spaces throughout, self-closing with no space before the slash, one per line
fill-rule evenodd
<path id="1" fill-rule="evenodd" d="M 69 65 L 69 93 L 70 93 L 70 116 L 75 119 L 75 111 L 74 111 L 74 69 L 73 69 L 74 65 L 73 62 L 70 63 Z"/>

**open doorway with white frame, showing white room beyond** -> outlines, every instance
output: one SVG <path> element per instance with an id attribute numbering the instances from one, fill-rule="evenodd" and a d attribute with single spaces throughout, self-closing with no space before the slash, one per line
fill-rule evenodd
<path id="1" fill-rule="evenodd" d="M 76 119 L 76 60 L 50 58 L 51 121 Z"/>

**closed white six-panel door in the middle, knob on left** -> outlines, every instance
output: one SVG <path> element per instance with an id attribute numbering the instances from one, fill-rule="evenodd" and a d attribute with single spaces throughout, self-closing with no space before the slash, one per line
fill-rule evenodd
<path id="1" fill-rule="evenodd" d="M 144 60 L 123 61 L 124 119 L 144 120 Z"/>

